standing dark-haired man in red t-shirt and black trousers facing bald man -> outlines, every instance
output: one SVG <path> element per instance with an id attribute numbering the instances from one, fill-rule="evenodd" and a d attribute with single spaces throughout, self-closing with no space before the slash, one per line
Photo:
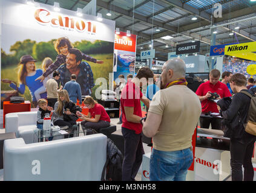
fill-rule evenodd
<path id="1" fill-rule="evenodd" d="M 125 140 L 125 152 L 123 156 L 122 180 L 134 181 L 142 163 L 144 154 L 142 145 L 142 109 L 140 101 L 149 107 L 149 100 L 140 92 L 142 81 L 146 83 L 148 78 L 154 78 L 153 71 L 148 67 L 140 68 L 136 78 L 128 80 L 122 90 L 120 99 L 122 108 L 122 134 Z M 146 80 L 146 81 L 145 81 Z"/>

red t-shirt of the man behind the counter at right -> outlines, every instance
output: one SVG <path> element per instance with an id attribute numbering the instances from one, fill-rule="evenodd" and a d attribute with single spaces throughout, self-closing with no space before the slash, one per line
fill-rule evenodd
<path id="1" fill-rule="evenodd" d="M 226 84 L 221 83 L 218 81 L 215 85 L 210 83 L 210 81 L 207 81 L 206 83 L 200 84 L 199 88 L 195 92 L 199 96 L 205 96 L 206 93 L 210 91 L 211 93 L 217 92 L 218 95 L 220 95 L 220 98 L 229 97 L 232 96 L 231 93 L 228 90 L 228 86 Z M 203 100 L 201 101 L 202 105 L 202 113 L 218 113 L 217 109 L 217 103 L 209 100 Z"/>

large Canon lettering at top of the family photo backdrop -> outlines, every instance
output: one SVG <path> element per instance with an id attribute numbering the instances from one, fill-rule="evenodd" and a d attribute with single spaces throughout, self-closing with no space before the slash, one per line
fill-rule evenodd
<path id="1" fill-rule="evenodd" d="M 53 14 L 50 11 L 47 11 L 43 8 L 39 8 L 34 11 L 34 19 L 39 22 L 39 24 L 51 24 L 54 27 L 61 27 L 67 29 L 76 29 L 79 32 L 88 32 L 91 34 L 96 33 L 96 25 L 91 24 L 91 22 L 86 22 L 82 19 L 74 19 L 70 17 L 62 17 L 58 15 L 57 18 L 53 17 Z"/>

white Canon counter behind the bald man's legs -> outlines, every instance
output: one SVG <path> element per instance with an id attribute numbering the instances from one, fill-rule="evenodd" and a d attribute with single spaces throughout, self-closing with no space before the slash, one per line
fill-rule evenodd
<path id="1" fill-rule="evenodd" d="M 192 138 L 194 162 L 188 169 L 187 181 L 223 181 L 230 177 L 229 138 L 223 131 L 196 128 L 197 138 Z M 142 159 L 142 181 L 149 181 L 151 152 Z"/>

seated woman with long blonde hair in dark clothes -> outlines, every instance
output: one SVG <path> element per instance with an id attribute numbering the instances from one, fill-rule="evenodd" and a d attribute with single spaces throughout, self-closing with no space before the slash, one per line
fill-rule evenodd
<path id="1" fill-rule="evenodd" d="M 71 130 L 77 128 L 76 121 L 72 119 L 65 119 L 65 115 L 72 115 L 70 112 L 70 109 L 65 108 L 67 107 L 67 104 L 73 103 L 70 101 L 70 98 L 68 96 L 67 90 L 61 90 L 58 92 L 58 100 L 54 105 L 54 112 L 53 112 L 53 124 L 58 125 L 59 127 L 63 126 L 72 126 Z M 75 105 L 75 104 L 74 104 Z M 53 110 L 53 107 L 48 107 L 49 110 Z"/>

